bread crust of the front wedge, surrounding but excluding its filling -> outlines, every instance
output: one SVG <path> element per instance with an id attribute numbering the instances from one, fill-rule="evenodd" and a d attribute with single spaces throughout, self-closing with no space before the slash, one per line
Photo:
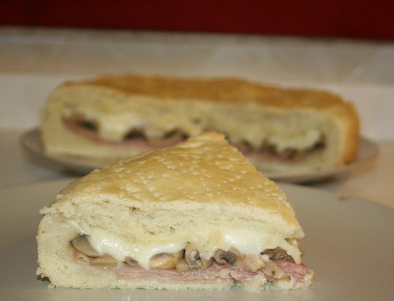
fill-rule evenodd
<path id="1" fill-rule="evenodd" d="M 58 287 L 217 289 L 234 285 L 231 279 L 183 284 L 165 278 L 124 280 L 109 269 L 86 267 L 71 256 L 69 242 L 79 235 L 70 226 L 72 222 L 87 223 L 137 242 L 165 244 L 196 239 L 201 253 L 204 247 L 210 249 L 217 243 L 215 237 L 208 241 L 191 237 L 201 229 L 260 231 L 282 239 L 304 236 L 285 194 L 222 134 L 214 132 L 95 170 L 60 191 L 41 213 L 38 274 Z M 311 282 L 308 276 L 286 289 Z M 264 289 L 254 282 L 236 285 L 252 291 Z"/>

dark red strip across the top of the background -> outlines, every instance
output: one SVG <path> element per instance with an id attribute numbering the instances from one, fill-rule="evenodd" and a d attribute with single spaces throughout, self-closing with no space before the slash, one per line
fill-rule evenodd
<path id="1" fill-rule="evenodd" d="M 394 39 L 394 0 L 12 0 L 1 25 Z"/>

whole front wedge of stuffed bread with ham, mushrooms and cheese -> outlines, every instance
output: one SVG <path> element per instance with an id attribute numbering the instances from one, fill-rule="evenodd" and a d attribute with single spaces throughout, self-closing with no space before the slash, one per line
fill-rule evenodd
<path id="1" fill-rule="evenodd" d="M 313 282 L 276 184 L 207 132 L 69 184 L 39 224 L 52 287 L 291 290 Z"/>

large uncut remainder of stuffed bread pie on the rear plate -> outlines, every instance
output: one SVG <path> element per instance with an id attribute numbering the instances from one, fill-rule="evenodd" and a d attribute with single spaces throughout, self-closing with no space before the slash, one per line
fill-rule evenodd
<path id="1" fill-rule="evenodd" d="M 132 74 L 60 85 L 40 131 L 49 155 L 107 164 L 222 132 L 261 171 L 340 166 L 355 159 L 359 139 L 354 106 L 335 94 Z"/>

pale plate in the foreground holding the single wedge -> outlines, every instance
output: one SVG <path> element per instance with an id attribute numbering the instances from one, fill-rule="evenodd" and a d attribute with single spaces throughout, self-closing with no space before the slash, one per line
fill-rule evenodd
<path id="1" fill-rule="evenodd" d="M 279 184 L 306 237 L 303 262 L 315 271 L 312 288 L 261 294 L 229 291 L 48 289 L 39 280 L 35 235 L 39 208 L 71 179 L 0 190 L 1 300 L 393 300 L 394 210 L 360 199 Z"/>

